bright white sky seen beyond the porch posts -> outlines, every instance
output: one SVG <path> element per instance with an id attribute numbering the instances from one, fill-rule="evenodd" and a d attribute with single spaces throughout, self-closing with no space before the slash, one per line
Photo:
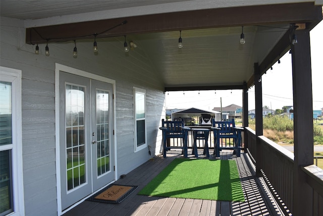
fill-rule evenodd
<path id="1" fill-rule="evenodd" d="M 323 21 L 310 31 L 313 110 L 323 108 Z M 301 41 L 298 41 L 301 42 Z M 282 109 L 293 106 L 292 61 L 287 52 L 262 76 L 262 106 L 270 109 Z M 273 85 L 273 83 L 275 83 Z M 237 104 L 242 106 L 242 90 L 210 90 L 210 91 L 173 91 L 166 92 L 167 109 L 212 110 L 213 107 Z M 248 90 L 248 109 L 254 110 L 254 86 Z"/>

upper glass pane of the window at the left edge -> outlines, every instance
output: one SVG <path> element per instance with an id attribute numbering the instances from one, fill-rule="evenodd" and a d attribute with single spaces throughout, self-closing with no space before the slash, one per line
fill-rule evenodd
<path id="1" fill-rule="evenodd" d="M 11 83 L 0 82 L 0 145 L 12 144 Z"/>

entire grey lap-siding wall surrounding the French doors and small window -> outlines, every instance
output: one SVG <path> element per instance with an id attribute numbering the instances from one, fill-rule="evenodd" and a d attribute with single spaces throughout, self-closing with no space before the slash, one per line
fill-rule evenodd
<path id="1" fill-rule="evenodd" d="M 18 45 L 19 31 L 11 24 L 2 23 L 0 58 L 1 66 L 22 70 L 25 214 L 56 215 L 55 63 L 116 81 L 115 133 L 119 176 L 151 157 L 147 148 L 134 152 L 133 87 L 146 90 L 147 145 L 151 145 L 154 154 L 160 149 L 158 127 L 165 116 L 164 85 L 141 50 L 140 43 L 125 53 L 123 37 L 98 39 L 99 52 L 94 55 L 93 42 L 77 41 L 76 59 L 72 57 L 74 43 L 49 43 L 50 57 L 46 57 L 44 44 L 39 44 L 40 55 L 34 54 L 34 45 Z"/>

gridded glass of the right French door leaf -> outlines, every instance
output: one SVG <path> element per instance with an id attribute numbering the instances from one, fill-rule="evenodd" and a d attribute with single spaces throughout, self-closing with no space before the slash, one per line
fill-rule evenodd
<path id="1" fill-rule="evenodd" d="M 97 176 L 110 171 L 109 92 L 96 90 Z"/>

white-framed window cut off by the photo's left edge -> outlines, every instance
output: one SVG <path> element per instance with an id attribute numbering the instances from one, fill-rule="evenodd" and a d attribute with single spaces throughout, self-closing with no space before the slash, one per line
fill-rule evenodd
<path id="1" fill-rule="evenodd" d="M 0 215 L 24 215 L 21 71 L 0 67 Z"/>

